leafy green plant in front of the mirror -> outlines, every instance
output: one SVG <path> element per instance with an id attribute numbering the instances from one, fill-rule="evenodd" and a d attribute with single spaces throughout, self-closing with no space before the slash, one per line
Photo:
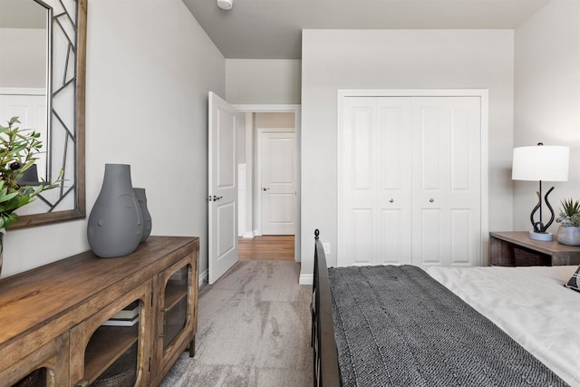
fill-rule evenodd
<path id="1" fill-rule="evenodd" d="M 40 133 L 20 130 L 16 124 L 18 117 L 8 121 L 8 126 L 0 125 L 0 231 L 5 232 L 12 222 L 18 219 L 14 214 L 17 208 L 30 203 L 46 189 L 58 186 L 63 172 L 53 184 L 41 181 L 37 187 L 21 186 L 18 181 L 30 169 L 43 144 Z"/>

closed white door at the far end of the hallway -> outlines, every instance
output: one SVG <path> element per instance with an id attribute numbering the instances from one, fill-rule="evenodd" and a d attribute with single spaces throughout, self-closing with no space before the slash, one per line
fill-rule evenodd
<path id="1" fill-rule="evenodd" d="M 260 132 L 262 235 L 295 235 L 295 133 Z"/>

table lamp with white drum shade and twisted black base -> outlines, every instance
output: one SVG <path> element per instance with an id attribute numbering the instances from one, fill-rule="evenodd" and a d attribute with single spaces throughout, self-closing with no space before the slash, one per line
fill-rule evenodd
<path id="1" fill-rule="evenodd" d="M 536 146 L 514 148 L 514 159 L 511 179 L 539 181 L 540 189 L 536 192 L 537 204 L 532 210 L 529 219 L 532 223 L 533 231 L 529 232 L 529 237 L 536 240 L 550 241 L 552 233 L 547 232 L 547 228 L 554 222 L 554 209 L 550 205 L 547 196 L 554 187 L 548 189 L 544 200 L 549 208 L 551 217 L 544 224 L 542 220 L 542 181 L 567 181 L 570 149 L 561 146 L 545 146 L 538 142 Z M 535 215 L 539 209 L 539 221 L 536 222 Z"/>

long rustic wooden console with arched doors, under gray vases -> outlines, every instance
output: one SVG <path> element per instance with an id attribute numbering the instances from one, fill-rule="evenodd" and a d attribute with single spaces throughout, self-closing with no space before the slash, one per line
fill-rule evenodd
<path id="1" fill-rule="evenodd" d="M 198 256 L 197 237 L 149 237 L 0 280 L 0 387 L 158 385 L 194 354 Z"/>

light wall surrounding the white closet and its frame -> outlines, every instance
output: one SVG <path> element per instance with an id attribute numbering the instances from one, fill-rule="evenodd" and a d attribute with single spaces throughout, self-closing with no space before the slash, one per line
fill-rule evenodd
<path id="1" fill-rule="evenodd" d="M 339 89 L 488 89 L 489 229 L 510 229 L 512 30 L 304 30 L 302 273 L 312 275 L 314 228 L 337 246 Z M 329 265 L 336 262 L 328 256 Z"/>

